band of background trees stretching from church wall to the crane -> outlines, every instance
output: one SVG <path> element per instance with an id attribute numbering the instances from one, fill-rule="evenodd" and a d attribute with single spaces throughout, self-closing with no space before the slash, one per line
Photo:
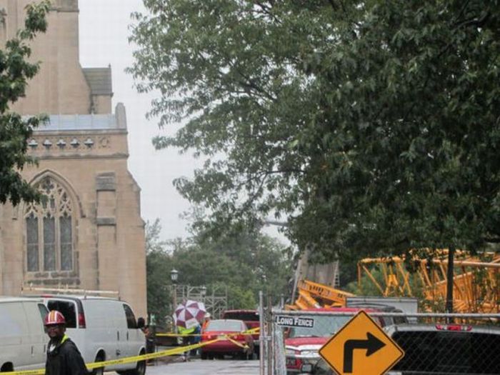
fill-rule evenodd
<path id="1" fill-rule="evenodd" d="M 159 219 L 146 224 L 148 310 L 159 319 L 169 314 L 170 271 L 179 271 L 179 284 L 227 291 L 230 309 L 255 309 L 259 290 L 274 302 L 289 294 L 291 257 L 275 239 L 256 232 L 231 234 L 217 240 L 197 234 L 188 241 L 161 241 Z"/>

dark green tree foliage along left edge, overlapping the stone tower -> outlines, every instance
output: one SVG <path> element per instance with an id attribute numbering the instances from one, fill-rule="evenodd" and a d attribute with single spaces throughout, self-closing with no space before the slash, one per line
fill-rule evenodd
<path id="1" fill-rule="evenodd" d="M 29 79 L 39 71 L 38 63 L 27 61 L 31 55 L 29 41 L 36 33 L 46 31 L 46 13 L 50 1 L 26 6 L 26 20 L 16 38 L 6 41 L 0 49 L 0 203 L 39 201 L 41 194 L 21 177 L 25 164 L 36 161 L 26 155 L 33 129 L 47 120 L 46 116 L 22 119 L 9 111 L 9 104 L 24 96 Z"/>

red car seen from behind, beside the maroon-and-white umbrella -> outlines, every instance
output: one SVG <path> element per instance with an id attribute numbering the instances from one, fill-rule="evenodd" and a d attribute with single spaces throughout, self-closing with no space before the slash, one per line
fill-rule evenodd
<path id="1" fill-rule="evenodd" d="M 214 356 L 221 358 L 225 354 L 238 356 L 241 359 L 251 359 L 254 354 L 254 339 L 251 335 L 239 334 L 247 329 L 248 327 L 242 320 L 214 319 L 209 321 L 208 326 L 203 331 L 201 341 L 211 341 L 224 336 L 224 334 L 231 334 L 231 339 L 239 342 L 239 345 L 228 339 L 223 339 L 201 346 L 201 359 L 213 359 Z"/>

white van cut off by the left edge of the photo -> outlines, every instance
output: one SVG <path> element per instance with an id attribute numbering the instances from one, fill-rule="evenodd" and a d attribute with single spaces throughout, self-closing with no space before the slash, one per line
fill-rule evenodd
<path id="1" fill-rule="evenodd" d="M 47 312 L 41 299 L 0 296 L 0 372 L 45 368 Z"/>

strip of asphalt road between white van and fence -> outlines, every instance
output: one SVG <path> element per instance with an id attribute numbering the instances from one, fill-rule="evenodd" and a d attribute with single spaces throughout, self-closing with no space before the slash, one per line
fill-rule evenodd
<path id="1" fill-rule="evenodd" d="M 237 361 L 234 359 L 191 359 L 188 362 L 147 366 L 146 375 L 259 375 L 259 361 Z"/>

